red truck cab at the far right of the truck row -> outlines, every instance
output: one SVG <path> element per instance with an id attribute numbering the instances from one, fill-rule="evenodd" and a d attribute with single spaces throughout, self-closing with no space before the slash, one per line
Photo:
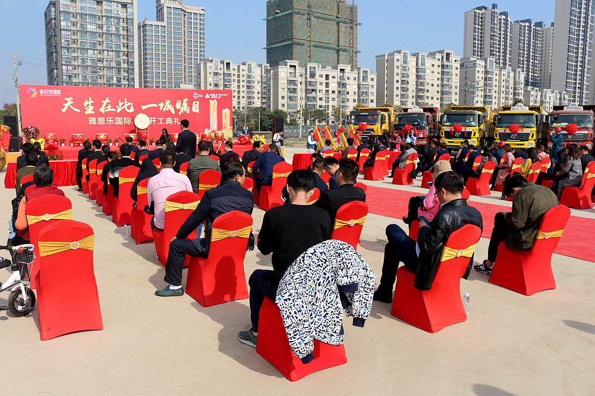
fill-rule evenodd
<path id="1" fill-rule="evenodd" d="M 570 106 L 554 106 L 552 113 L 546 116 L 546 126 L 549 133 L 553 133 L 558 126 L 562 128 L 563 144 L 576 143 L 593 148 L 593 119 L 595 106 L 571 104 Z M 574 123 L 577 131 L 574 134 L 566 132 L 566 126 Z M 548 140 L 547 147 L 552 148 Z"/>

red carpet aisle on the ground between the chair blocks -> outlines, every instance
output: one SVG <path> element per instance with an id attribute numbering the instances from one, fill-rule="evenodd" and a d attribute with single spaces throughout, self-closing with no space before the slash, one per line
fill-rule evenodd
<path id="1" fill-rule="evenodd" d="M 370 213 L 400 219 L 407 214 L 409 198 L 416 195 L 421 194 L 391 188 L 368 186 L 366 203 L 369 205 Z M 494 226 L 494 216 L 496 216 L 496 213 L 510 211 L 509 207 L 502 205 L 484 204 L 481 202 L 471 202 L 470 205 L 481 212 L 484 222 L 481 237 L 488 239 L 491 235 L 491 229 Z M 594 226 L 595 220 L 592 218 L 571 216 L 555 253 L 595 262 L 593 240 L 584 237 L 585 230 L 592 230 Z"/>

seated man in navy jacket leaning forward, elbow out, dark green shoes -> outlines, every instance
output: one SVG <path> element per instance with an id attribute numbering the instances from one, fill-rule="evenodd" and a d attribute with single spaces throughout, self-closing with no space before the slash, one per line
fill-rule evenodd
<path id="1" fill-rule="evenodd" d="M 221 179 L 224 180 L 219 186 L 205 192 L 201 202 L 190 214 L 184 224 L 180 227 L 176 236 L 171 240 L 170 252 L 165 264 L 164 281 L 168 283 L 164 289 L 157 290 L 156 296 L 171 297 L 184 294 L 182 289 L 182 269 L 186 255 L 195 257 L 206 257 L 209 254 L 211 245 L 211 227 L 215 218 L 232 210 L 239 210 L 252 215 L 254 207 L 254 194 L 243 188 L 246 181 L 244 167 L 239 162 L 227 164 L 223 169 Z M 186 239 L 193 230 L 196 230 L 203 221 L 207 221 L 205 237 L 198 239 Z M 250 234 L 248 249 L 254 248 L 254 236 Z"/>

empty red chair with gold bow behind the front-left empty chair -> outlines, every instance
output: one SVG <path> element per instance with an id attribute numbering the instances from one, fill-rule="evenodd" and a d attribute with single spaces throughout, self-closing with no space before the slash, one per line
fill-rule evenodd
<path id="1" fill-rule="evenodd" d="M 30 265 L 31 289 L 35 289 L 39 281 L 39 246 L 37 235 L 40 230 L 61 220 L 70 220 L 73 217 L 73 205 L 70 199 L 60 195 L 42 195 L 27 202 L 27 227 L 29 227 L 30 241 L 35 246 L 35 261 Z"/>

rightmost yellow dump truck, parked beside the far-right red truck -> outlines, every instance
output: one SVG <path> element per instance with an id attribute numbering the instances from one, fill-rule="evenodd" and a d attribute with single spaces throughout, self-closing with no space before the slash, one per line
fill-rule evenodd
<path id="1" fill-rule="evenodd" d="M 502 111 L 493 113 L 490 118 L 491 135 L 496 142 L 503 140 L 512 148 L 526 149 L 536 147 L 537 141 L 542 138 L 544 114 L 541 106 L 525 106 L 522 103 L 514 107 L 502 106 Z M 517 125 L 518 130 L 511 125 Z"/>

